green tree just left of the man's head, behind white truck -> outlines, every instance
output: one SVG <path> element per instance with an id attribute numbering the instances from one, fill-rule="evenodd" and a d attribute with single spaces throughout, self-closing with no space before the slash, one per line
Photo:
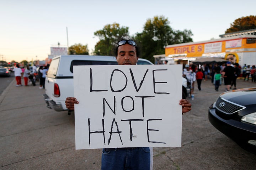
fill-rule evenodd
<path id="1" fill-rule="evenodd" d="M 128 27 L 120 27 L 118 23 L 108 24 L 102 30 L 98 30 L 94 35 L 98 36 L 100 41 L 95 45 L 94 54 L 102 56 L 112 56 L 112 49 L 117 39 L 122 36 L 128 36 Z"/>

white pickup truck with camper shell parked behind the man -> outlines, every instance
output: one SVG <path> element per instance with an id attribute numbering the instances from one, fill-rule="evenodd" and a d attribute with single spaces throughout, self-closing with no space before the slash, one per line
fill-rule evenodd
<path id="1" fill-rule="evenodd" d="M 139 58 L 137 64 L 153 64 Z M 55 111 L 68 110 L 66 97 L 74 96 L 73 66 L 117 65 L 113 56 L 62 55 L 52 59 L 45 80 L 44 100 L 48 108 Z M 70 115 L 70 111 L 68 112 Z"/>

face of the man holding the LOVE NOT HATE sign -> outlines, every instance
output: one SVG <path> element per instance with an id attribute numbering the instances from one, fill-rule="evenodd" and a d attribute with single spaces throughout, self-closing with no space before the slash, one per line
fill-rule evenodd
<path id="1" fill-rule="evenodd" d="M 118 47 L 117 63 L 118 65 L 135 65 L 138 61 L 136 48 L 129 44 L 124 44 Z"/>

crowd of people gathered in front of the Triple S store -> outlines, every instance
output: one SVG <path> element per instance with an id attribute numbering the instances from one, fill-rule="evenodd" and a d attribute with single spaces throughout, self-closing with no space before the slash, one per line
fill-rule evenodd
<path id="1" fill-rule="evenodd" d="M 244 81 L 256 82 L 256 69 L 255 65 L 246 66 L 241 68 L 238 63 L 233 63 L 230 60 L 227 62 L 219 62 L 213 64 L 183 64 L 183 77 L 186 77 L 191 84 L 190 98 L 194 100 L 194 83 L 197 81 L 197 88 L 201 91 L 202 81 L 211 80 L 216 91 L 219 90 L 219 86 L 224 84 L 225 91 L 236 89 L 236 79 L 243 77 Z"/>

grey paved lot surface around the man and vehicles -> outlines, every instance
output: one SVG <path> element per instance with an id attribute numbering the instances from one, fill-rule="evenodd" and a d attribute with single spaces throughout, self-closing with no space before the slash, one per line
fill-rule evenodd
<path id="1" fill-rule="evenodd" d="M 15 83 L 0 95 L 0 170 L 100 169 L 101 149 L 75 150 L 74 114 L 46 108 L 38 84 Z M 238 80 L 238 88 L 252 86 Z M 216 92 L 209 80 L 195 90 L 192 111 L 182 116 L 182 147 L 154 148 L 154 170 L 255 170 L 256 155 L 208 121 L 208 107 L 223 91 L 222 85 Z"/>

